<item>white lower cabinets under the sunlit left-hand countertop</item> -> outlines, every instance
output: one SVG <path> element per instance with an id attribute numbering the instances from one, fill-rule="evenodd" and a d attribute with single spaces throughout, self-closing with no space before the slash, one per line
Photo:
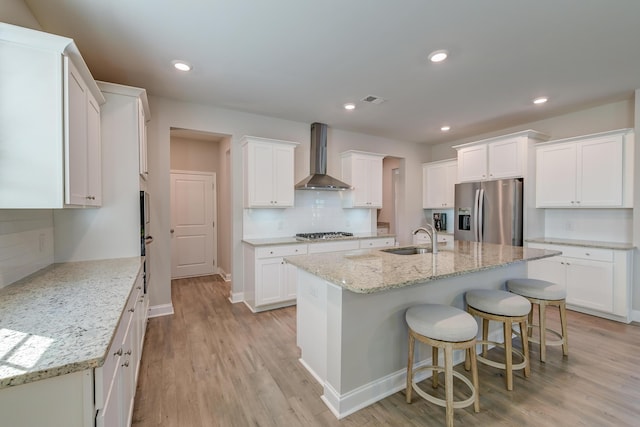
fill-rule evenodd
<path id="1" fill-rule="evenodd" d="M 0 425 L 122 427 L 131 425 L 146 328 L 139 275 L 104 364 L 0 390 Z"/>

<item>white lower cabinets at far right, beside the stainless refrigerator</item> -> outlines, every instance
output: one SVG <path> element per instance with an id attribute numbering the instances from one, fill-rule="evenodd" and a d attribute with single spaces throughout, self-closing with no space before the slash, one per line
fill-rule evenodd
<path id="1" fill-rule="evenodd" d="M 631 321 L 631 251 L 536 243 L 528 247 L 562 252 L 529 262 L 528 275 L 565 286 L 569 308 Z"/>

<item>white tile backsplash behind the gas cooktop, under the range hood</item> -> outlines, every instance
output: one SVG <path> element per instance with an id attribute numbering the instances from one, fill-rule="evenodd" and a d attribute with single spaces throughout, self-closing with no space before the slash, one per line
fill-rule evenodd
<path id="1" fill-rule="evenodd" d="M 243 215 L 245 239 L 318 231 L 376 231 L 376 209 L 344 209 L 339 191 L 297 190 L 293 208 L 244 209 Z"/>

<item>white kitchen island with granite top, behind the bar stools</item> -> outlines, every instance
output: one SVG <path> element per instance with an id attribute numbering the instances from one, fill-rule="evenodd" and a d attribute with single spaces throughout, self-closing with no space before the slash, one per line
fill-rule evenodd
<path id="1" fill-rule="evenodd" d="M 503 289 L 507 279 L 526 277 L 527 261 L 556 255 L 455 241 L 437 254 L 354 250 L 286 257 L 298 268 L 300 361 L 323 386 L 334 415 L 347 416 L 405 387 L 408 307 L 464 308 L 467 290 Z M 462 352 L 456 356 L 462 361 Z M 415 360 L 431 364 L 430 357 L 430 349 L 419 348 Z"/>

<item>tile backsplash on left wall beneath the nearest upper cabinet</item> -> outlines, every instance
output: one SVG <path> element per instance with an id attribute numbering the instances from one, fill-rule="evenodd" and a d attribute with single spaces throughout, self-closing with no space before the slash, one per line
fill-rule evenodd
<path id="1" fill-rule="evenodd" d="M 0 209 L 0 288 L 52 263 L 52 211 Z"/>

